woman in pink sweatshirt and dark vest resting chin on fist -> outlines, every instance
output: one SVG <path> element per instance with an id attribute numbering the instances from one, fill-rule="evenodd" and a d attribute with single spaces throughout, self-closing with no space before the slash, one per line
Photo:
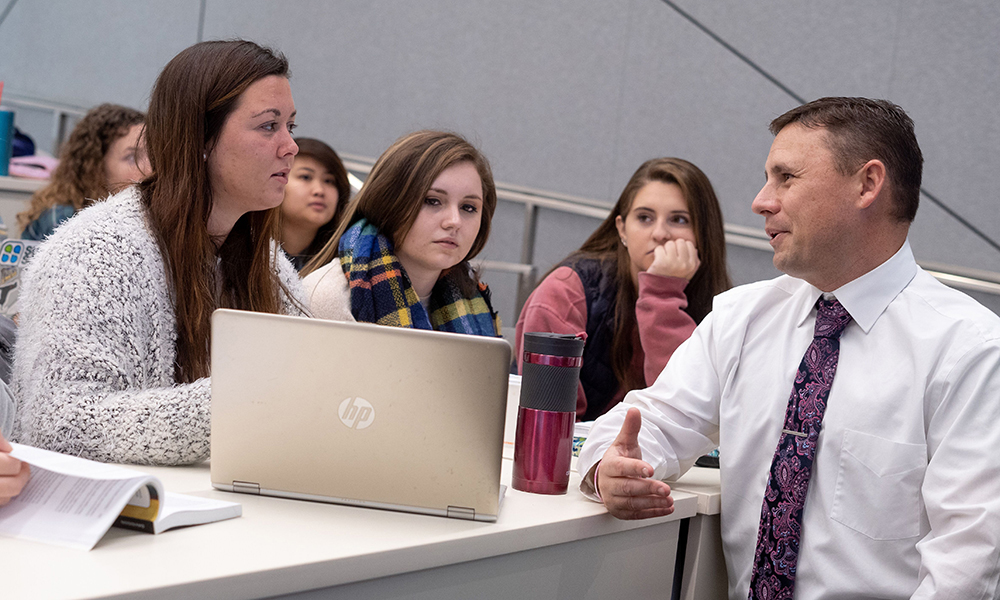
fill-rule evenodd
<path id="1" fill-rule="evenodd" d="M 577 420 L 593 421 L 646 387 L 731 286 L 722 209 L 686 160 L 649 160 L 579 250 L 542 280 L 521 310 L 525 332 L 586 332 Z"/>

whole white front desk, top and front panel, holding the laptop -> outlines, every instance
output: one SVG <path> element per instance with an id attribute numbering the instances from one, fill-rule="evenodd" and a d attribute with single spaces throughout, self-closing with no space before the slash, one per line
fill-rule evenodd
<path id="1" fill-rule="evenodd" d="M 669 598 L 679 523 L 697 508 L 676 493 L 669 517 L 619 521 L 574 474 L 565 496 L 508 489 L 498 522 L 474 523 L 218 492 L 207 465 L 143 470 L 238 500 L 243 516 L 158 536 L 113 528 L 90 552 L 0 538 L 0 597 Z"/>

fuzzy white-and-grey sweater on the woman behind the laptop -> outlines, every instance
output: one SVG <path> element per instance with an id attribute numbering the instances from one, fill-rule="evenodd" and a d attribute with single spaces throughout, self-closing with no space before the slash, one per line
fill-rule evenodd
<path id="1" fill-rule="evenodd" d="M 276 252 L 281 280 L 301 299 L 295 270 Z M 135 188 L 80 212 L 39 247 L 20 307 L 17 441 L 105 462 L 208 457 L 210 380 L 174 381 L 173 301 Z M 287 298 L 285 312 L 301 314 Z"/>

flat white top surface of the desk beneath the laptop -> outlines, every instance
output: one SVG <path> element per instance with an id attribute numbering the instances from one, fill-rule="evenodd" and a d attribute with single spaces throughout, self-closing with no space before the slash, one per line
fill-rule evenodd
<path id="1" fill-rule="evenodd" d="M 90 552 L 0 538 L 10 586 L 4 597 L 263 597 L 655 526 L 698 512 L 697 495 L 678 490 L 670 516 L 620 521 L 580 494 L 575 474 L 565 496 L 508 488 L 497 523 L 474 523 L 220 492 L 211 488 L 207 466 L 139 469 L 155 473 L 169 491 L 239 501 L 244 516 L 158 536 L 113 529 Z M 509 483 L 509 464 L 504 471 Z M 37 577 L 43 562 L 60 576 Z"/>

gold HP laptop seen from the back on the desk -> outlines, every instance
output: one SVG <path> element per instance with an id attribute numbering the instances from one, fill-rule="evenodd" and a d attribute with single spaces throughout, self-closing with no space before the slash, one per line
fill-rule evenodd
<path id="1" fill-rule="evenodd" d="M 495 521 L 510 346 L 236 310 L 212 316 L 212 485 Z"/>

